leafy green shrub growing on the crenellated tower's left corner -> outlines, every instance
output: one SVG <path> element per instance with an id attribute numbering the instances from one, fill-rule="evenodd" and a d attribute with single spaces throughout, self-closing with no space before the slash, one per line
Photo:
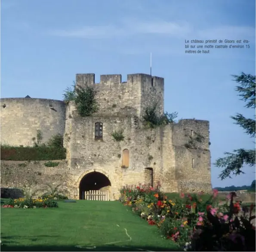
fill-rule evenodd
<path id="1" fill-rule="evenodd" d="M 72 88 L 67 88 L 63 94 L 63 100 L 68 103 L 69 101 L 74 101 L 76 105 L 77 112 L 80 116 L 90 116 L 97 112 L 99 105 L 96 101 L 96 91 L 93 87 L 86 85 L 85 87 L 80 87 L 73 85 Z"/>

